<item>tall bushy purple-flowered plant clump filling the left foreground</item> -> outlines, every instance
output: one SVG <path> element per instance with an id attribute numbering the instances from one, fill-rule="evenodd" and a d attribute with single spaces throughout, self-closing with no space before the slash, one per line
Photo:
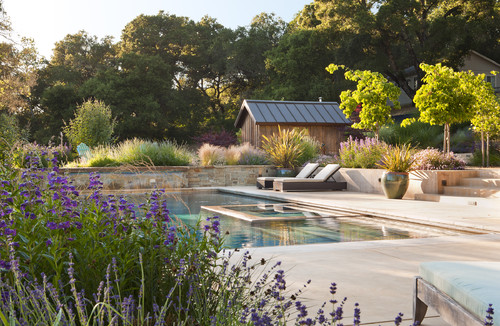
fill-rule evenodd
<path id="1" fill-rule="evenodd" d="M 71 293 L 64 272 L 69 253 L 75 261 L 76 284 L 84 293 L 99 286 L 107 263 L 115 259 L 123 293 L 155 293 L 145 298 L 148 311 L 175 284 L 179 266 L 199 272 L 200 277 L 211 273 L 213 257 L 222 246 L 218 236 L 209 236 L 215 221 L 200 237 L 199 228 L 172 221 L 161 191 L 134 207 L 123 197 L 102 195 L 99 176 L 91 175 L 89 194 L 82 196 L 58 173 L 56 158 L 52 170 L 40 169 L 38 157 L 29 161 L 24 171 L 5 165 L 0 169 L 0 267 L 4 270 L 12 267 L 6 236 L 12 237 L 21 274 L 33 277 L 43 272 L 66 295 Z M 139 254 L 144 257 L 142 283 L 136 263 Z"/>

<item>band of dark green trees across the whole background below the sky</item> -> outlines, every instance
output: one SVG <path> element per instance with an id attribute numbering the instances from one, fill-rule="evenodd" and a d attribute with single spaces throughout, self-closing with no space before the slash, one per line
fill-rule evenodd
<path id="1" fill-rule="evenodd" d="M 491 0 L 314 0 L 288 24 L 262 13 L 236 29 L 160 11 L 131 20 L 119 40 L 69 34 L 43 64 L 32 44 L 5 38 L 1 0 L 0 14 L 0 105 L 41 143 L 88 98 L 110 107 L 118 139 L 190 142 L 233 129 L 243 98 L 338 101 L 346 90 L 353 98 L 368 78 L 355 71 L 378 71 L 372 81 L 390 80 L 413 98 L 406 78 L 413 67 L 422 79 L 423 62 L 458 68 L 471 49 L 500 61 L 500 6 Z M 359 79 L 330 75 L 330 62 Z M 369 107 L 364 122 L 390 121 L 379 119 L 387 107 Z"/>

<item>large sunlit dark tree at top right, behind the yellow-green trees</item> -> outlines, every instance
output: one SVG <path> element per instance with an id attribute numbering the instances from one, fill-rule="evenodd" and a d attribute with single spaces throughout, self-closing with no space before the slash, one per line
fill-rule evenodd
<path id="1" fill-rule="evenodd" d="M 491 0 L 315 0 L 295 29 L 324 30 L 335 62 L 388 76 L 413 98 L 406 71 L 445 61 L 458 68 L 470 50 L 500 60 L 500 7 Z"/>

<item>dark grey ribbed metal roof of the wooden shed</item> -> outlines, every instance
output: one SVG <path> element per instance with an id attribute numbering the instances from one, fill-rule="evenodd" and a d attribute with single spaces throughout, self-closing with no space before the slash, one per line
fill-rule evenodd
<path id="1" fill-rule="evenodd" d="M 249 115 L 256 124 L 350 124 L 337 102 L 244 100 L 234 123 Z"/>

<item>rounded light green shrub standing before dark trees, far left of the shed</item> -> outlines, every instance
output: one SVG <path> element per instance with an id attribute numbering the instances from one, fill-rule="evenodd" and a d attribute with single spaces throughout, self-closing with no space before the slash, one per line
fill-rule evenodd
<path id="1" fill-rule="evenodd" d="M 75 118 L 63 130 L 74 147 L 80 143 L 95 147 L 111 141 L 114 126 L 109 106 L 98 100 L 87 100 L 77 107 Z"/>

